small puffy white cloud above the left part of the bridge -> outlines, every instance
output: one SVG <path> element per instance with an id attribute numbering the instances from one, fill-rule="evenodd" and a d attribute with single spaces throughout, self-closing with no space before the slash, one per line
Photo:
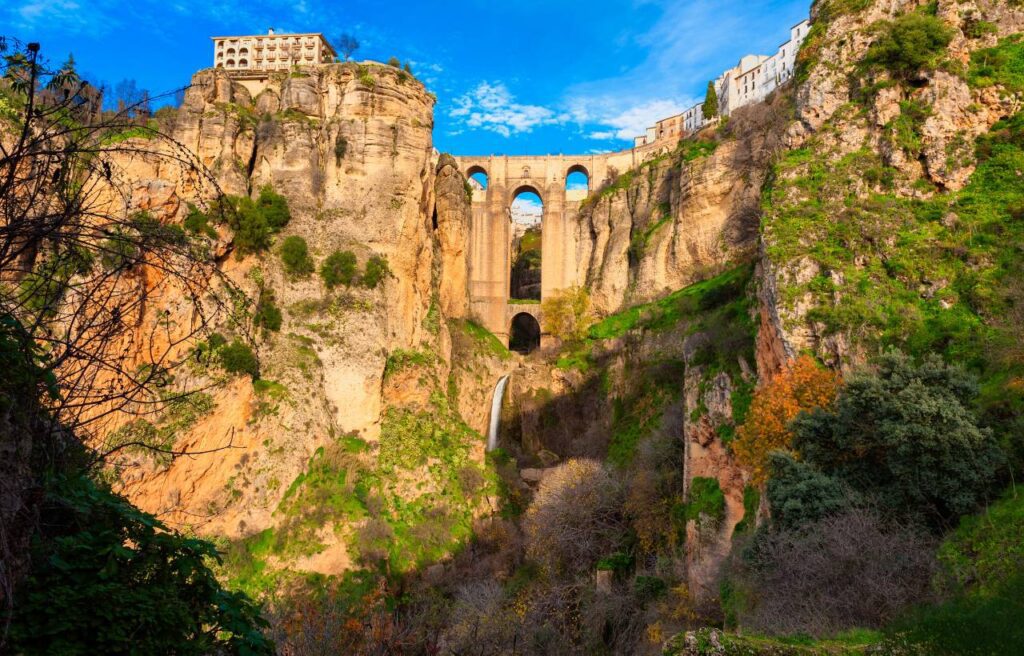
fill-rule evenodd
<path id="1" fill-rule="evenodd" d="M 537 104 L 521 104 L 502 82 L 481 82 L 469 93 L 453 100 L 449 116 L 469 128 L 496 132 L 504 137 L 545 125 L 557 125 L 569 120 L 567 114 Z"/>

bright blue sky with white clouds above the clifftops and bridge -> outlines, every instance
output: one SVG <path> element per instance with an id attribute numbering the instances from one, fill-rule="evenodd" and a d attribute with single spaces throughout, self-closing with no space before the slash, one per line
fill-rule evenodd
<path id="1" fill-rule="evenodd" d="M 810 0 L 23 0 L 0 33 L 54 61 L 153 92 L 210 65 L 209 37 L 342 32 L 355 58 L 410 60 L 437 94 L 434 144 L 458 155 L 627 147 L 703 96 L 748 52 L 770 53 Z"/>

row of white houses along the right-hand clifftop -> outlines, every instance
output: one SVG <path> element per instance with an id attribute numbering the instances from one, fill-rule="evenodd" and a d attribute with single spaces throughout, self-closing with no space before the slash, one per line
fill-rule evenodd
<path id="1" fill-rule="evenodd" d="M 797 52 L 810 31 L 810 20 L 804 19 L 790 28 L 790 40 L 778 47 L 775 54 L 748 54 L 739 62 L 720 75 L 715 80 L 715 91 L 718 93 L 718 113 L 729 116 L 739 107 L 761 102 L 772 91 L 793 78 L 797 63 Z M 679 120 L 681 117 L 682 134 L 695 132 L 702 128 L 707 121 L 703 118 L 703 103 L 698 102 L 678 117 L 666 121 Z M 659 121 L 658 125 L 665 123 Z M 675 137 L 676 131 L 659 131 L 657 125 L 648 128 L 647 134 L 634 139 L 634 147 L 654 143 L 662 138 Z M 682 136 L 680 134 L 680 136 Z"/>

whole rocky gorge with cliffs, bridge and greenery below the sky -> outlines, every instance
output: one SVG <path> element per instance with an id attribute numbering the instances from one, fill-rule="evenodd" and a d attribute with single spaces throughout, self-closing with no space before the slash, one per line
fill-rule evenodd
<path id="1" fill-rule="evenodd" d="M 809 29 L 763 99 L 587 156 L 438 154 L 436 98 L 397 64 L 200 71 L 90 146 L 122 223 L 87 263 L 43 239 L 5 265 L 4 316 L 44 324 L 124 272 L 96 289 L 142 300 L 104 306 L 125 330 L 103 348 L 153 396 L 81 429 L 106 453 L 89 480 L 212 542 L 278 653 L 1012 653 L 1024 6 L 817 0 Z M 12 152 L 26 104 L 0 92 Z M 55 303 L 30 302 L 43 274 Z M 33 339 L 73 332 L 50 320 Z M 4 527 L 81 508 L 43 502 L 9 437 L 53 434 L 18 423 L 26 389 L 56 407 L 20 376 Z M 40 608 L 59 572 L 33 568 L 81 530 L 5 556 L 0 599 Z M 89 653 L 17 613 L 12 653 Z M 271 653 L 253 641 L 222 653 Z"/>

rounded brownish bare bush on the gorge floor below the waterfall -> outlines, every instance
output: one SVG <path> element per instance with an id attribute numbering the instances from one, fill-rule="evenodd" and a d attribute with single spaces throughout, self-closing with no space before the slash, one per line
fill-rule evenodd
<path id="1" fill-rule="evenodd" d="M 526 554 L 553 573 L 593 567 L 622 543 L 622 484 L 597 461 L 551 470 L 526 511 Z"/>

